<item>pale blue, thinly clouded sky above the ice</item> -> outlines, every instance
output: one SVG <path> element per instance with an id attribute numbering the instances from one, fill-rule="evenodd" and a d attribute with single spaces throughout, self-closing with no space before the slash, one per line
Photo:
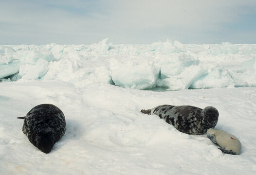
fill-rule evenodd
<path id="1" fill-rule="evenodd" d="M 256 0 L 0 0 L 0 45 L 256 44 Z"/>

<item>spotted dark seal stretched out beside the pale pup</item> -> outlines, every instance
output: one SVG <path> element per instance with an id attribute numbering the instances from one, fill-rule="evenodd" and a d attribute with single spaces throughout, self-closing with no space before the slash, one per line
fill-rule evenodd
<path id="1" fill-rule="evenodd" d="M 204 109 L 189 105 L 159 105 L 152 109 L 142 109 L 142 113 L 156 114 L 165 122 L 186 134 L 203 134 L 214 128 L 218 122 L 219 112 L 215 107 Z"/>

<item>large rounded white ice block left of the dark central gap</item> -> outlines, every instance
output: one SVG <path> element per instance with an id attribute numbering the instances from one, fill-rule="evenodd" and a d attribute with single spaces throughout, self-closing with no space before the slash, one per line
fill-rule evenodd
<path id="1" fill-rule="evenodd" d="M 153 88 L 159 76 L 149 58 L 138 56 L 111 58 L 110 70 L 114 84 L 123 88 Z"/>

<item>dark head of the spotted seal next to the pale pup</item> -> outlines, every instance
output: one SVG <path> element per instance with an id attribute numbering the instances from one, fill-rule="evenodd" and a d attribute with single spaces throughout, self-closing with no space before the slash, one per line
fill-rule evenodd
<path id="1" fill-rule="evenodd" d="M 205 122 L 215 126 L 218 122 L 219 112 L 215 107 L 207 106 L 202 110 L 202 117 Z"/>

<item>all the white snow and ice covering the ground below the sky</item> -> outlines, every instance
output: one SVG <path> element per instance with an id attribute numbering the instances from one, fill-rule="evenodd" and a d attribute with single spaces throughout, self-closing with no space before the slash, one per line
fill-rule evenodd
<path id="1" fill-rule="evenodd" d="M 256 45 L 231 43 L 0 46 L 1 174 L 254 174 L 255 60 Z M 156 87 L 168 90 L 140 90 Z M 43 103 L 58 106 L 67 123 L 49 154 L 17 119 Z M 238 137 L 241 154 L 224 155 L 206 134 L 140 112 L 164 104 L 216 107 L 215 128 Z"/>

